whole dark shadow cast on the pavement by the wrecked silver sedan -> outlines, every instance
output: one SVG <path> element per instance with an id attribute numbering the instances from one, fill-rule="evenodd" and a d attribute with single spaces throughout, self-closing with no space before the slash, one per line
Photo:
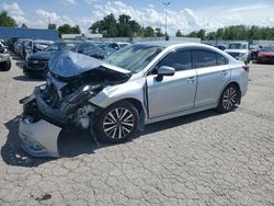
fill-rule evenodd
<path id="1" fill-rule="evenodd" d="M 130 141 L 134 141 L 136 138 L 141 138 L 142 135 L 149 135 L 157 133 L 159 130 L 170 129 L 183 124 L 201 121 L 215 115 L 219 115 L 219 113 L 209 110 L 196 114 L 191 114 L 186 116 L 181 116 L 168 121 L 153 123 L 147 125 L 145 131 L 136 135 L 136 137 Z M 3 161 L 10 165 L 31 168 L 55 160 L 53 158 L 31 157 L 20 148 L 20 141 L 18 135 L 19 118 L 20 116 L 16 116 L 15 118 L 4 124 L 4 126 L 9 130 L 9 134 L 7 136 L 7 141 L 4 146 L 1 148 L 1 156 Z M 95 150 L 104 147 L 115 147 L 115 145 L 98 142 L 96 140 L 94 140 L 94 138 L 90 136 L 88 130 L 64 129 L 61 130 L 58 137 L 58 151 L 60 158 L 71 158 L 83 153 L 90 154 L 94 153 Z"/>

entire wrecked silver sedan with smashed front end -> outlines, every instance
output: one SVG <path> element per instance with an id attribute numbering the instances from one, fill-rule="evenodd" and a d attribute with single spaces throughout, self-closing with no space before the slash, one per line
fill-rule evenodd
<path id="1" fill-rule="evenodd" d="M 61 128 L 90 129 L 103 142 L 132 138 L 144 125 L 216 108 L 235 110 L 247 93 L 249 67 L 203 44 L 134 44 L 104 61 L 57 53 L 46 84 L 22 99 L 21 147 L 58 157 Z"/>

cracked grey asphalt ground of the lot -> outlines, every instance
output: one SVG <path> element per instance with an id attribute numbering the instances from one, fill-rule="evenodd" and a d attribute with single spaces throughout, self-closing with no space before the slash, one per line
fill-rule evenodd
<path id="1" fill-rule="evenodd" d="M 152 124 L 116 146 L 64 131 L 64 158 L 34 159 L 19 148 L 19 100 L 42 81 L 12 64 L 0 72 L 0 205 L 274 205 L 274 66 L 250 65 L 232 113 Z"/>

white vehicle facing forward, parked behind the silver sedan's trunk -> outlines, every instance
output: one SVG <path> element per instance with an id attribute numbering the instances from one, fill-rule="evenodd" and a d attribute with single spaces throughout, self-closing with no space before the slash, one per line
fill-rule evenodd
<path id="1" fill-rule="evenodd" d="M 230 43 L 228 47 L 225 49 L 225 52 L 231 55 L 237 60 L 241 60 L 246 64 L 249 64 L 250 61 L 249 43 L 246 42 Z"/>

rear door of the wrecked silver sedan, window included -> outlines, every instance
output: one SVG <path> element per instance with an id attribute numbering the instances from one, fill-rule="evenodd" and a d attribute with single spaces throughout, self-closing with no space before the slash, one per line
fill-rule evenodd
<path id="1" fill-rule="evenodd" d="M 193 50 L 192 54 L 198 77 L 195 107 L 215 104 L 231 76 L 228 60 L 210 50 Z"/>

